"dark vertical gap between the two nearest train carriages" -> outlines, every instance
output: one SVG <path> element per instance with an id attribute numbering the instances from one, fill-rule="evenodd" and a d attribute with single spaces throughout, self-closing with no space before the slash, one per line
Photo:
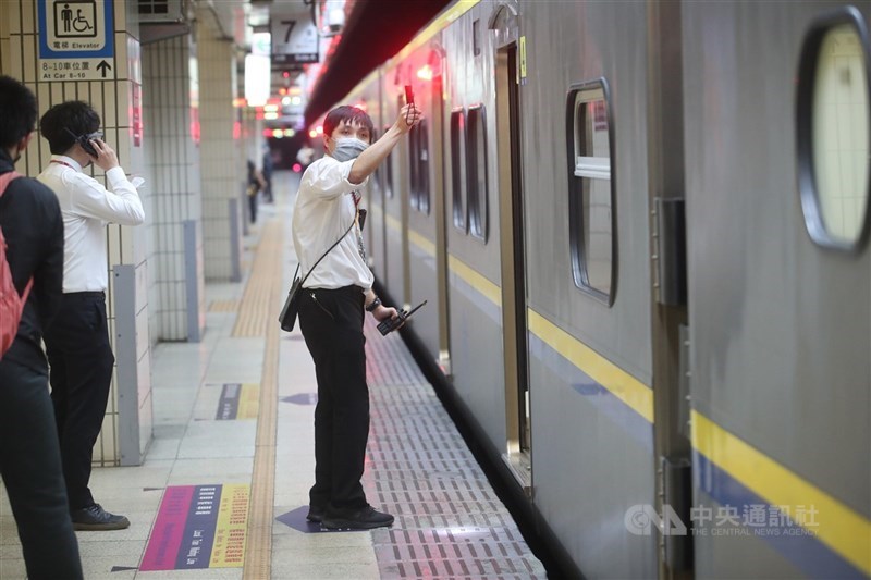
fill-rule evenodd
<path id="1" fill-rule="evenodd" d="M 649 4 L 648 172 L 651 235 L 651 349 L 658 513 L 689 521 L 691 454 L 685 366 L 686 229 L 683 164 L 680 3 Z M 660 577 L 691 577 L 691 534 L 662 536 Z"/>

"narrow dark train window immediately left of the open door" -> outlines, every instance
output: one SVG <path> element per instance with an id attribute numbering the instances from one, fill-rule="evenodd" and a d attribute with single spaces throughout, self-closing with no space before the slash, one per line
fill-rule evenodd
<path id="1" fill-rule="evenodd" d="M 487 242 L 487 119 L 481 104 L 469 108 L 466 141 L 466 202 L 469 233 Z"/>

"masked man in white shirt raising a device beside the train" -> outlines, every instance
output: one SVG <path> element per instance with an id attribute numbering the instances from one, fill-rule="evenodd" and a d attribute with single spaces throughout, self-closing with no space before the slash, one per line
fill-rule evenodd
<path id="1" fill-rule="evenodd" d="M 328 529 L 393 523 L 393 516 L 368 504 L 360 484 L 369 437 L 363 320 L 367 311 L 379 322 L 398 314 L 372 292 L 375 277 L 356 220 L 359 189 L 420 116 L 414 104 L 403 107 L 393 126 L 370 145 L 372 120 L 365 111 L 333 109 L 323 122 L 327 155 L 308 166 L 296 196 L 293 242 L 302 270 L 310 272 L 299 297 L 299 328 L 318 381 L 307 518 Z"/>

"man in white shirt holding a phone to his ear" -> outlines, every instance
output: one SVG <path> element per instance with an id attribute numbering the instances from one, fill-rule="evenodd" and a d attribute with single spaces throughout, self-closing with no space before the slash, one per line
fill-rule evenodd
<path id="1" fill-rule="evenodd" d="M 145 211 L 88 103 L 57 104 L 39 126 L 52 156 L 37 178 L 58 196 L 64 229 L 63 306 L 45 342 L 70 515 L 76 530 L 121 530 L 130 520 L 106 511 L 88 488 L 115 361 L 106 318 L 106 224 L 138 225 Z M 91 163 L 106 172 L 108 188 L 83 173 Z"/>

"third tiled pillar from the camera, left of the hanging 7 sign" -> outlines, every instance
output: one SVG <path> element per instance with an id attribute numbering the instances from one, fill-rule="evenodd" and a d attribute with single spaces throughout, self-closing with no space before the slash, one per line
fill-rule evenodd
<path id="1" fill-rule="evenodd" d="M 207 280 L 234 280 L 241 262 L 244 178 L 240 173 L 241 125 L 233 108 L 235 48 L 218 30 L 213 13 L 203 5 L 197 8 L 197 53 L 205 272 Z"/>

